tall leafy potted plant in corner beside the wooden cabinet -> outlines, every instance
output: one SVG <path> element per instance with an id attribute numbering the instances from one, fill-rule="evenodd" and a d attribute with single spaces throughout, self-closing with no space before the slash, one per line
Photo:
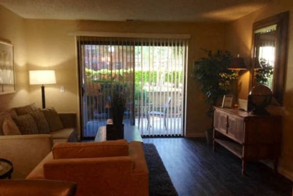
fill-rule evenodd
<path id="1" fill-rule="evenodd" d="M 205 103 L 209 104 L 207 115 L 212 117 L 214 114 L 213 106 L 217 105 L 219 98 L 231 91 L 232 83 L 236 80 L 236 73 L 228 69 L 233 56 L 229 51 L 217 50 L 212 53 L 210 50 L 202 49 L 207 53 L 195 61 L 192 76 L 200 84 L 200 89 L 207 96 Z M 213 127 L 213 120 L 212 120 Z M 212 141 L 212 127 L 206 130 L 207 143 Z"/>

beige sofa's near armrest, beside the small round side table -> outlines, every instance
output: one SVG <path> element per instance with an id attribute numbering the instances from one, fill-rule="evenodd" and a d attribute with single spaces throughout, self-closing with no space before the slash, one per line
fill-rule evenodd
<path id="1" fill-rule="evenodd" d="M 52 149 L 51 135 L 0 136 L 0 157 L 13 164 L 12 178 L 25 178 Z"/>

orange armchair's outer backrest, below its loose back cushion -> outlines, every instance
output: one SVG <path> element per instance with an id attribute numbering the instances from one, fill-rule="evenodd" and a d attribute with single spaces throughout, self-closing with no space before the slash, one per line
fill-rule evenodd
<path id="1" fill-rule="evenodd" d="M 43 168 L 45 179 L 76 182 L 76 195 L 113 195 L 132 186 L 133 161 L 128 156 L 53 159 Z"/>

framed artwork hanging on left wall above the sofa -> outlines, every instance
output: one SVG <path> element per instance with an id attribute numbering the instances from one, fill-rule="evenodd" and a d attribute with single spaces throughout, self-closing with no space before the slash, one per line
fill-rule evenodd
<path id="1" fill-rule="evenodd" d="M 0 41 L 0 95 L 15 93 L 13 45 Z"/>

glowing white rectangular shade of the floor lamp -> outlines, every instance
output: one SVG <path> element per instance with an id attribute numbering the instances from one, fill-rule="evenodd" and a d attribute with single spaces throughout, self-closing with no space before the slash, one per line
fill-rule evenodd
<path id="1" fill-rule="evenodd" d="M 29 73 L 30 84 L 56 84 L 54 70 L 34 70 Z"/>

